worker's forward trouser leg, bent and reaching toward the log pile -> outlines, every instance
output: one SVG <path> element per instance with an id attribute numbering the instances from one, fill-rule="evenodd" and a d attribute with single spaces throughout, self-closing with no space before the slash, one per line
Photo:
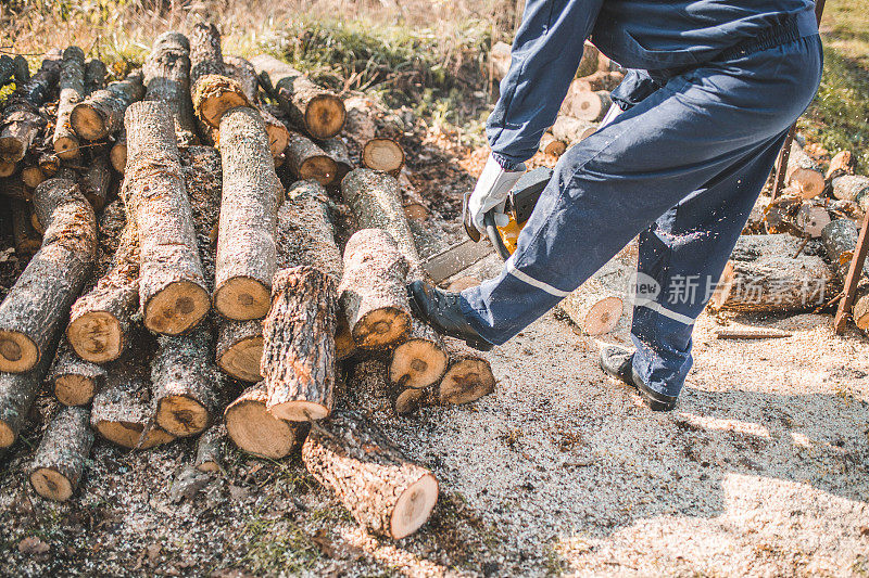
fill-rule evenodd
<path id="1" fill-rule="evenodd" d="M 506 342 L 692 192 L 764 154 L 811 101 L 820 60 L 811 37 L 704 66 L 568 151 L 501 274 L 462 292 L 471 327 Z"/>

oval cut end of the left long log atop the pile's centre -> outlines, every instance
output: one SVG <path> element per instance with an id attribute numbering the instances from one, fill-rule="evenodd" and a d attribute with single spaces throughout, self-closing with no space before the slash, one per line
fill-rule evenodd
<path id="1" fill-rule="evenodd" d="M 194 327 L 211 308 L 207 292 L 190 281 L 171 283 L 144 308 L 144 326 L 155 333 L 180 335 Z"/>

